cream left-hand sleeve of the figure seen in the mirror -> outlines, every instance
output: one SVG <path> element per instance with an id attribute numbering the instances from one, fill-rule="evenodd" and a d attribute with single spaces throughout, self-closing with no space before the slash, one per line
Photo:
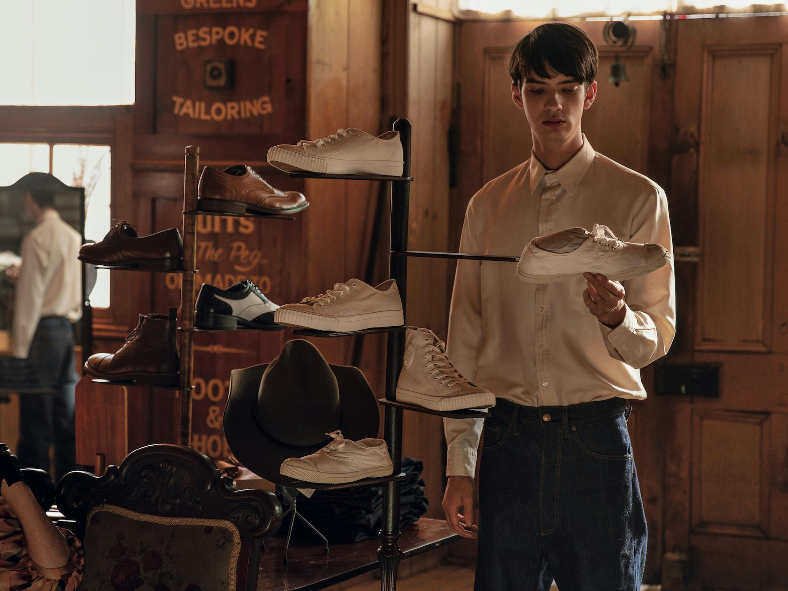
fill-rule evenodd
<path id="1" fill-rule="evenodd" d="M 46 295 L 46 253 L 32 236 L 22 241 L 22 266 L 13 309 L 13 356 L 27 359 Z"/>

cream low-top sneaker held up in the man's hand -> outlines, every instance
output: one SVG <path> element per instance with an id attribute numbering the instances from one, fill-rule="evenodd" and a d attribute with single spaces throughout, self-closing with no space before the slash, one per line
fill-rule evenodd
<path id="1" fill-rule="evenodd" d="M 671 260 L 659 244 L 624 242 L 606 225 L 568 228 L 531 240 L 517 263 L 517 276 L 528 283 L 553 283 L 583 273 L 602 273 L 624 281 L 656 271 Z"/>

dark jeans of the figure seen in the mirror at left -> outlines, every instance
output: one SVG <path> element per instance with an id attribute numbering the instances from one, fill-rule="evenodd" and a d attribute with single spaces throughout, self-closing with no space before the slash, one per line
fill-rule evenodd
<path id="1" fill-rule="evenodd" d="M 3 388 L 50 388 L 50 394 L 20 394 L 17 457 L 23 468 L 50 471 L 54 444 L 55 482 L 75 470 L 74 333 L 66 318 L 41 318 L 28 359 L 0 357 Z"/>

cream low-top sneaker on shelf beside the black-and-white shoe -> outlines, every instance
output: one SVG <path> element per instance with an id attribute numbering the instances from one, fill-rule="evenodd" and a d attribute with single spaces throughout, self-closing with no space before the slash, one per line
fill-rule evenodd
<path id="1" fill-rule="evenodd" d="M 404 322 L 400 290 L 393 279 L 377 288 L 360 279 L 337 283 L 314 298 L 284 304 L 273 318 L 285 326 L 336 333 L 401 326 Z"/>

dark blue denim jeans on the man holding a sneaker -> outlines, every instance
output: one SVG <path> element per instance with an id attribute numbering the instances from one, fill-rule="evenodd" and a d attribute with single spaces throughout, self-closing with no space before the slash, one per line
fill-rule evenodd
<path id="1" fill-rule="evenodd" d="M 637 591 L 646 525 L 620 398 L 497 399 L 485 419 L 475 591 Z"/>

